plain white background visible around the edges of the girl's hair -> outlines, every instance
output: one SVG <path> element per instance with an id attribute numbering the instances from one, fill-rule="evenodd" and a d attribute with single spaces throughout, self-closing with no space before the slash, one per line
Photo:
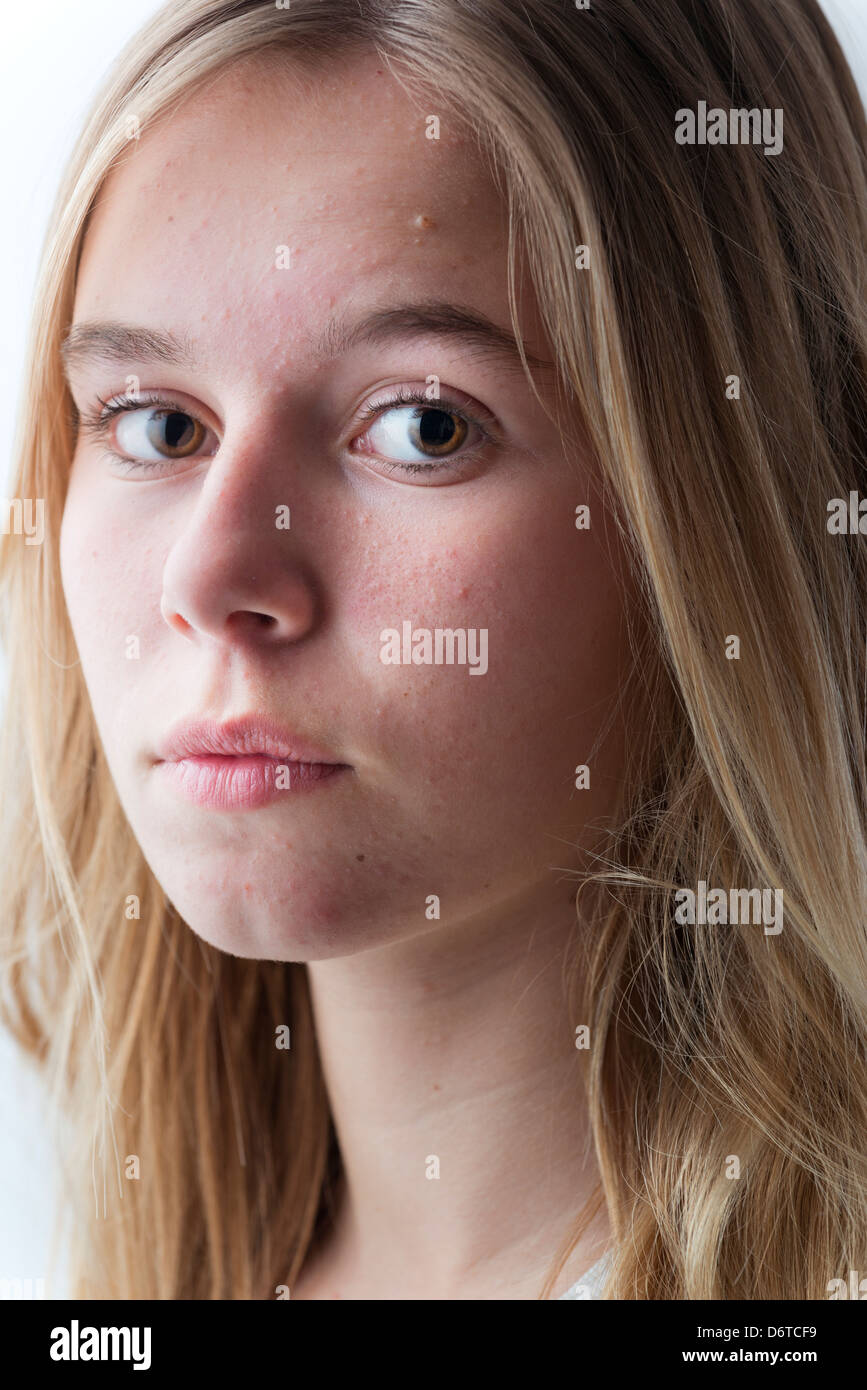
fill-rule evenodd
<path id="1" fill-rule="evenodd" d="M 773 0 L 767 0 L 773 3 Z M 0 117 L 6 215 L 0 218 L 0 477 L 8 496 L 22 345 L 42 239 L 61 168 L 93 92 L 156 0 L 40 0 L 4 7 Z M 824 0 L 867 101 L 867 0 Z M 0 671 L 1 674 L 1 671 Z M 1 792 L 6 795 L 6 790 Z M 0 1030 L 0 1282 L 46 1275 L 51 1154 L 36 1083 Z M 0 1283 L 0 1289 L 1 1289 Z M 64 1297 L 56 1282 L 50 1297 Z"/>

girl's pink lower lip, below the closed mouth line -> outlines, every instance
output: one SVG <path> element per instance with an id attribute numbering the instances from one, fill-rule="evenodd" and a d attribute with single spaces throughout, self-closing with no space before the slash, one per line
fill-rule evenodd
<path id="1" fill-rule="evenodd" d="M 220 753 L 157 766 L 188 801 L 213 810 L 256 810 L 279 796 L 314 791 L 349 771 L 346 763 L 292 763 L 279 758 L 224 758 Z"/>

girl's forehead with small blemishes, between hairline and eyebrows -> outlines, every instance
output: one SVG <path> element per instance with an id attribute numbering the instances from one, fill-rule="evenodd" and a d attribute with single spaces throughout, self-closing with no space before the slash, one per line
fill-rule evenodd
<path id="1" fill-rule="evenodd" d="M 275 366 L 329 311 L 410 286 L 509 322 L 506 246 L 475 142 L 375 53 L 314 72 L 245 58 L 131 142 L 92 215 L 75 318 L 207 325 Z"/>

